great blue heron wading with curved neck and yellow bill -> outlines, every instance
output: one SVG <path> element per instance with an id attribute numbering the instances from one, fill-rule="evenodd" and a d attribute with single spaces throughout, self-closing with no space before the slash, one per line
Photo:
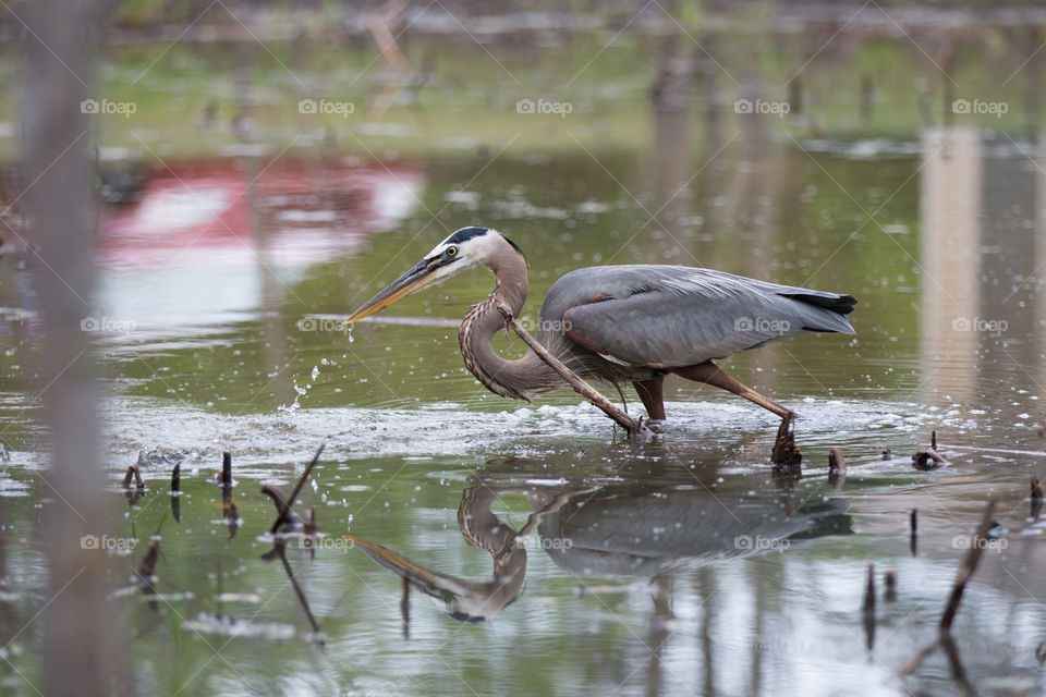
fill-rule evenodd
<path id="1" fill-rule="evenodd" d="M 494 271 L 490 296 L 469 309 L 458 332 L 465 367 L 488 390 L 531 401 L 567 387 L 533 351 L 515 360 L 491 346 L 504 328 L 498 304 L 519 316 L 526 302 L 526 259 L 496 230 L 462 228 L 367 301 L 354 322 L 426 285 L 477 265 Z M 542 304 L 537 341 L 582 378 L 631 381 L 652 419 L 665 418 L 661 383 L 674 372 L 729 390 L 790 419 L 790 409 L 745 387 L 713 360 L 804 332 L 852 334 L 852 295 L 778 285 L 711 269 L 630 265 L 577 269 L 556 281 Z"/>

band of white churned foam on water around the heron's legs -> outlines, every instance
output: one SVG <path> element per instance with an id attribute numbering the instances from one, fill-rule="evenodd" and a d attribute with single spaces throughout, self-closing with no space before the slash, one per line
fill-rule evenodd
<path id="1" fill-rule="evenodd" d="M 709 441 L 752 435 L 773 439 L 776 432 L 775 416 L 740 401 L 670 403 L 667 411 L 670 418 L 659 425 L 659 438 L 682 449 L 705 449 Z M 238 477 L 245 478 L 271 476 L 270 469 L 256 465 L 307 462 L 321 442 L 327 442 L 327 458 L 539 455 L 564 445 L 608 442 L 615 430 L 619 440 L 623 436 L 587 403 L 513 406 L 501 412 L 477 412 L 453 403 L 415 408 L 292 407 L 239 416 L 161 400 L 119 398 L 110 400 L 104 412 L 104 442 L 115 468 L 134 461 L 143 449 L 180 452 L 204 462 L 230 451 Z M 966 421 L 927 413 L 915 403 L 826 400 L 803 404 L 796 430 L 807 447 L 880 441 L 889 445 L 892 440 L 921 442 L 931 427 L 957 431 L 969 427 Z M 986 426 L 978 428 L 983 431 Z"/>

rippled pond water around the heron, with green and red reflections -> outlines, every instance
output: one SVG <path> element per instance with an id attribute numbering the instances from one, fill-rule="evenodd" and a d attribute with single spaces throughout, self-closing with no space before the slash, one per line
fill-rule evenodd
<path id="1" fill-rule="evenodd" d="M 1042 694 L 1046 526 L 1026 498 L 1046 456 L 1037 146 L 966 127 L 795 138 L 764 121 L 755 140 L 704 124 L 680 154 L 669 125 L 647 125 L 661 136 L 648 148 L 555 157 L 171 156 L 136 200 L 106 208 L 89 317 L 112 500 L 98 546 L 111 548 L 110 601 L 139 692 L 954 694 L 963 683 L 941 652 L 896 672 L 935 636 L 994 497 L 1001 527 L 953 636 L 977 694 Z M 598 114 L 564 127 L 585 136 Z M 534 404 L 486 392 L 455 338 L 492 288 L 484 270 L 344 333 L 348 311 L 472 223 L 527 254 L 532 320 L 557 278 L 597 264 L 701 265 L 856 295 L 856 337 L 723 363 L 800 413 L 803 476 L 768 467 L 771 415 L 713 388 L 669 382 L 668 419 L 641 445 L 572 392 Z M 32 258 L 5 249 L 0 638 L 24 676 L 0 674 L 29 694 L 38 637 L 20 628 L 46 602 L 36 540 L 57 503 L 36 414 Z M 951 465 L 919 472 L 910 455 L 932 430 Z M 289 490 L 321 443 L 296 506 L 315 509 L 321 536 L 292 536 L 285 565 L 263 560 L 276 510 L 262 485 Z M 849 463 L 838 488 L 834 447 Z M 136 497 L 117 485 L 142 451 L 155 452 Z M 224 501 L 223 451 L 235 478 Z M 162 553 L 145 595 L 133 570 L 154 534 Z"/>

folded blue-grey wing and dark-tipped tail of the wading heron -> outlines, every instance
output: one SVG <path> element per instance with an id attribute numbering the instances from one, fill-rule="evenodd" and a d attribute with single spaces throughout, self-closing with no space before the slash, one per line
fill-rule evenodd
<path id="1" fill-rule="evenodd" d="M 778 285 L 711 269 L 617 266 L 556 282 L 542 317 L 582 347 L 631 366 L 722 358 L 805 331 L 852 334 L 852 295 Z"/>

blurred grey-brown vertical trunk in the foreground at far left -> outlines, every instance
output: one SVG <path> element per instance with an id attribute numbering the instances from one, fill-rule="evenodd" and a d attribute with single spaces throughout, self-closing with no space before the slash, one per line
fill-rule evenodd
<path id="1" fill-rule="evenodd" d="M 89 313 L 92 179 L 86 97 L 88 3 L 34 0 L 25 8 L 23 99 L 26 200 L 36 291 L 42 313 L 42 399 L 51 432 L 53 489 L 45 508 L 48 604 L 44 621 L 44 692 L 111 694 L 101 560 L 81 537 L 101 521 L 94 356 L 81 320 Z"/>

